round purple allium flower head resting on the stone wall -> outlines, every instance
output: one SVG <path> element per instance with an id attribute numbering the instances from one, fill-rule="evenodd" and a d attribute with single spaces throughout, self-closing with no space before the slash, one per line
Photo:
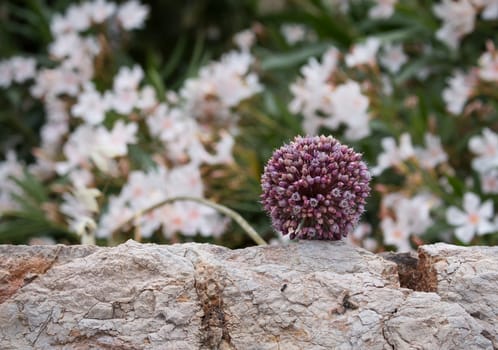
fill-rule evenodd
<path id="1" fill-rule="evenodd" d="M 332 136 L 298 136 L 265 166 L 261 201 L 283 235 L 338 240 L 365 210 L 369 181 L 361 154 Z"/>

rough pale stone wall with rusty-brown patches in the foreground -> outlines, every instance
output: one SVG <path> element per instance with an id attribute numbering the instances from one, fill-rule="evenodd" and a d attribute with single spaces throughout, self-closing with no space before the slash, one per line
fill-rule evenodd
<path id="1" fill-rule="evenodd" d="M 497 251 L 453 248 L 416 291 L 342 242 L 0 246 L 0 349 L 493 349 Z"/>

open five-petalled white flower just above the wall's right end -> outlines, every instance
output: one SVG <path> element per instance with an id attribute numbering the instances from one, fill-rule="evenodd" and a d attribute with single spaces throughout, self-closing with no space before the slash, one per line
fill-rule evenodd
<path id="1" fill-rule="evenodd" d="M 481 205 L 481 199 L 475 193 L 467 192 L 463 197 L 463 211 L 451 206 L 446 211 L 446 221 L 457 226 L 455 236 L 463 243 L 469 243 L 474 235 L 479 236 L 497 230 L 491 222 L 493 219 L 493 202 L 487 200 Z"/>

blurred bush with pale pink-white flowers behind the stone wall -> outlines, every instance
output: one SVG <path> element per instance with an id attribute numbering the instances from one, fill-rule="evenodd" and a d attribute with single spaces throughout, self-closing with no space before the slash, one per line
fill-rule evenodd
<path id="1" fill-rule="evenodd" d="M 45 51 L 8 53 L 0 99 L 11 107 L 0 113 L 17 133 L 1 141 L 0 240 L 71 242 L 90 230 L 102 244 L 131 234 L 247 244 L 199 203 L 148 210 L 176 196 L 223 203 L 269 240 L 275 234 L 258 203 L 264 164 L 295 135 L 331 134 L 372 173 L 351 242 L 371 250 L 498 243 L 494 2 L 241 3 L 252 23 L 240 23 L 225 53 L 196 44 L 196 64 L 177 51 L 161 59 L 127 51 L 148 17 L 157 23 L 152 5 L 137 0 L 72 3 L 49 17 Z M 48 11 L 35 10 L 18 17 Z M 228 35 L 216 26 L 204 33 L 206 42 Z M 272 181 L 264 177 L 263 190 L 279 192 Z M 266 196 L 263 206 L 278 206 Z M 287 224 L 285 215 L 275 224 L 283 233 L 323 228 L 318 211 L 300 230 L 303 219 Z M 354 221 L 340 221 L 340 233 Z"/>

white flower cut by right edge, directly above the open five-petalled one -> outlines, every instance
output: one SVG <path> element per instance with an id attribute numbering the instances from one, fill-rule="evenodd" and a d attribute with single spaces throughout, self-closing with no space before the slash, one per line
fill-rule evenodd
<path id="1" fill-rule="evenodd" d="M 472 160 L 472 168 L 485 172 L 498 167 L 498 134 L 484 128 L 481 136 L 473 136 L 469 140 L 469 149 L 478 157 Z"/>

